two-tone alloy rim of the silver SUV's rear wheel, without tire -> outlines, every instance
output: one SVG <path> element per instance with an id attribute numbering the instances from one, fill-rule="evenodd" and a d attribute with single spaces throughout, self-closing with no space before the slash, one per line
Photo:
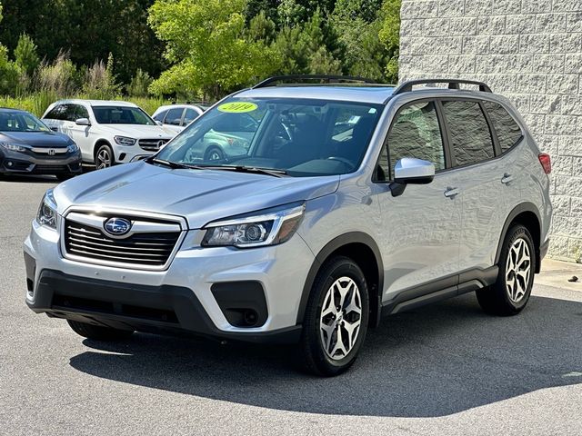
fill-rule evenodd
<path id="1" fill-rule="evenodd" d="M 509 247 L 506 263 L 507 294 L 512 302 L 520 302 L 527 292 L 531 274 L 531 254 L 527 242 L 518 238 Z"/>

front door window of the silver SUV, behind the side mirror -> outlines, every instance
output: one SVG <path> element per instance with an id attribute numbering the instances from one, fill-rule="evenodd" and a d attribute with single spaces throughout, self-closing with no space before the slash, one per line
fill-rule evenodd
<path id="1" fill-rule="evenodd" d="M 433 102 L 408 104 L 396 114 L 387 137 L 390 176 L 403 157 L 416 157 L 435 164 L 435 170 L 445 168 L 443 138 Z"/>

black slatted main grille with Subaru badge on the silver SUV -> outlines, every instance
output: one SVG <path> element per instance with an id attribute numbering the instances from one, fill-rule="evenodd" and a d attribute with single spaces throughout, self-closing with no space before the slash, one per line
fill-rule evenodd
<path id="1" fill-rule="evenodd" d="M 66 253 L 96 263 L 161 267 L 167 263 L 179 237 L 180 232 L 158 232 L 114 239 L 98 227 L 65 219 Z"/>

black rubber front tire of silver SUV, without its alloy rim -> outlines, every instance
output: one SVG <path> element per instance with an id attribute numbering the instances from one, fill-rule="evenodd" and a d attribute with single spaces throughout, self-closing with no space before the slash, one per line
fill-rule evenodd
<path id="1" fill-rule="evenodd" d="M 333 360 L 327 355 L 321 342 L 319 322 L 327 291 L 338 278 L 344 276 L 356 282 L 359 288 L 362 303 L 361 323 L 356 344 L 352 350 L 350 350 L 345 358 Z M 311 316 L 306 320 L 304 326 L 304 336 L 306 336 L 309 342 L 309 352 L 311 352 L 316 366 L 320 372 L 328 375 L 335 375 L 346 371 L 356 361 L 357 354 L 366 338 L 369 318 L 369 295 L 364 273 L 351 259 L 346 257 L 336 258 L 333 262 L 325 265 L 322 271 L 317 274 L 309 304 L 315 304 L 315 310 L 311 307 L 312 310 L 309 313 Z"/>

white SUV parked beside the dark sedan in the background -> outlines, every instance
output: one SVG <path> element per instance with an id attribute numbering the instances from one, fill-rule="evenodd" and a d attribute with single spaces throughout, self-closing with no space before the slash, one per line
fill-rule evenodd
<path id="1" fill-rule="evenodd" d="M 135 162 L 154 154 L 173 136 L 132 103 L 105 100 L 60 100 L 51 104 L 43 121 L 69 135 L 85 163 L 97 169 Z"/>

